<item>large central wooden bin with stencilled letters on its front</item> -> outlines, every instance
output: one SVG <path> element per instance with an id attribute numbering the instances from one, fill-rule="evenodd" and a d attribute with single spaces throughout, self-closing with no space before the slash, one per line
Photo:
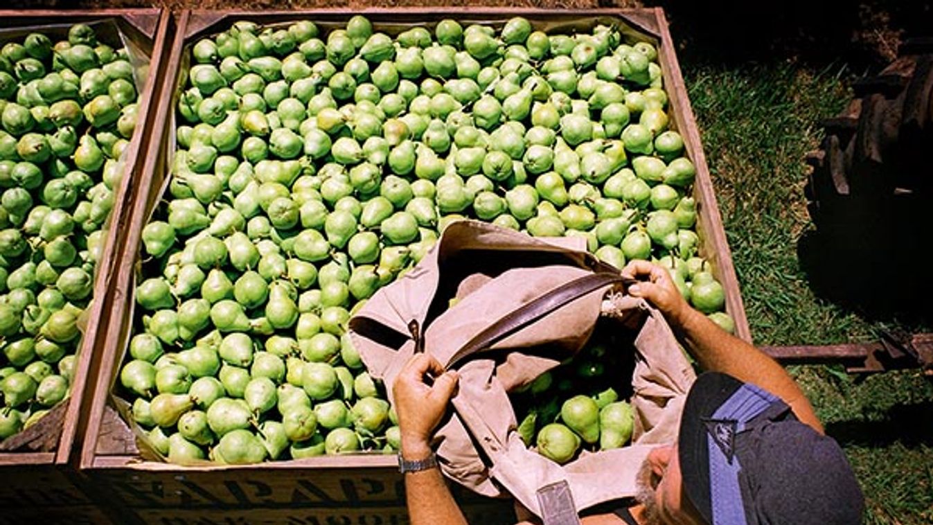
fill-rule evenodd
<path id="1" fill-rule="evenodd" d="M 318 457 L 299 461 L 248 466 L 190 466 L 146 461 L 135 445 L 135 435 L 118 415 L 111 390 L 118 377 L 132 326 L 134 272 L 141 233 L 168 175 L 169 148 L 174 144 L 176 92 L 186 79 L 183 53 L 203 35 L 215 34 L 237 20 L 262 24 L 308 19 L 323 27 L 348 20 L 359 11 L 184 11 L 166 59 L 165 82 L 154 121 L 145 169 L 135 187 L 129 228 L 122 239 L 119 268 L 114 281 L 113 312 L 107 326 L 99 380 L 93 394 L 80 469 L 95 485 L 125 505 L 127 519 L 146 523 L 404 523 L 402 480 L 396 458 L 382 454 Z M 722 229 L 716 198 L 706 168 L 699 132 L 690 110 L 661 9 L 545 11 L 537 9 L 431 8 L 368 9 L 361 11 L 377 30 L 392 24 L 436 22 L 454 18 L 470 22 L 502 23 L 522 15 L 533 24 L 585 25 L 592 17 L 614 17 L 653 39 L 659 47 L 665 87 L 670 95 L 673 126 L 681 132 L 689 158 L 697 169 L 695 197 L 703 255 L 726 289 L 727 310 L 737 333 L 750 339 L 731 254 Z M 382 28 L 381 28 L 382 26 Z M 398 26 L 396 26 L 398 27 Z M 510 505 L 461 494 L 470 522 L 512 522 Z"/>

